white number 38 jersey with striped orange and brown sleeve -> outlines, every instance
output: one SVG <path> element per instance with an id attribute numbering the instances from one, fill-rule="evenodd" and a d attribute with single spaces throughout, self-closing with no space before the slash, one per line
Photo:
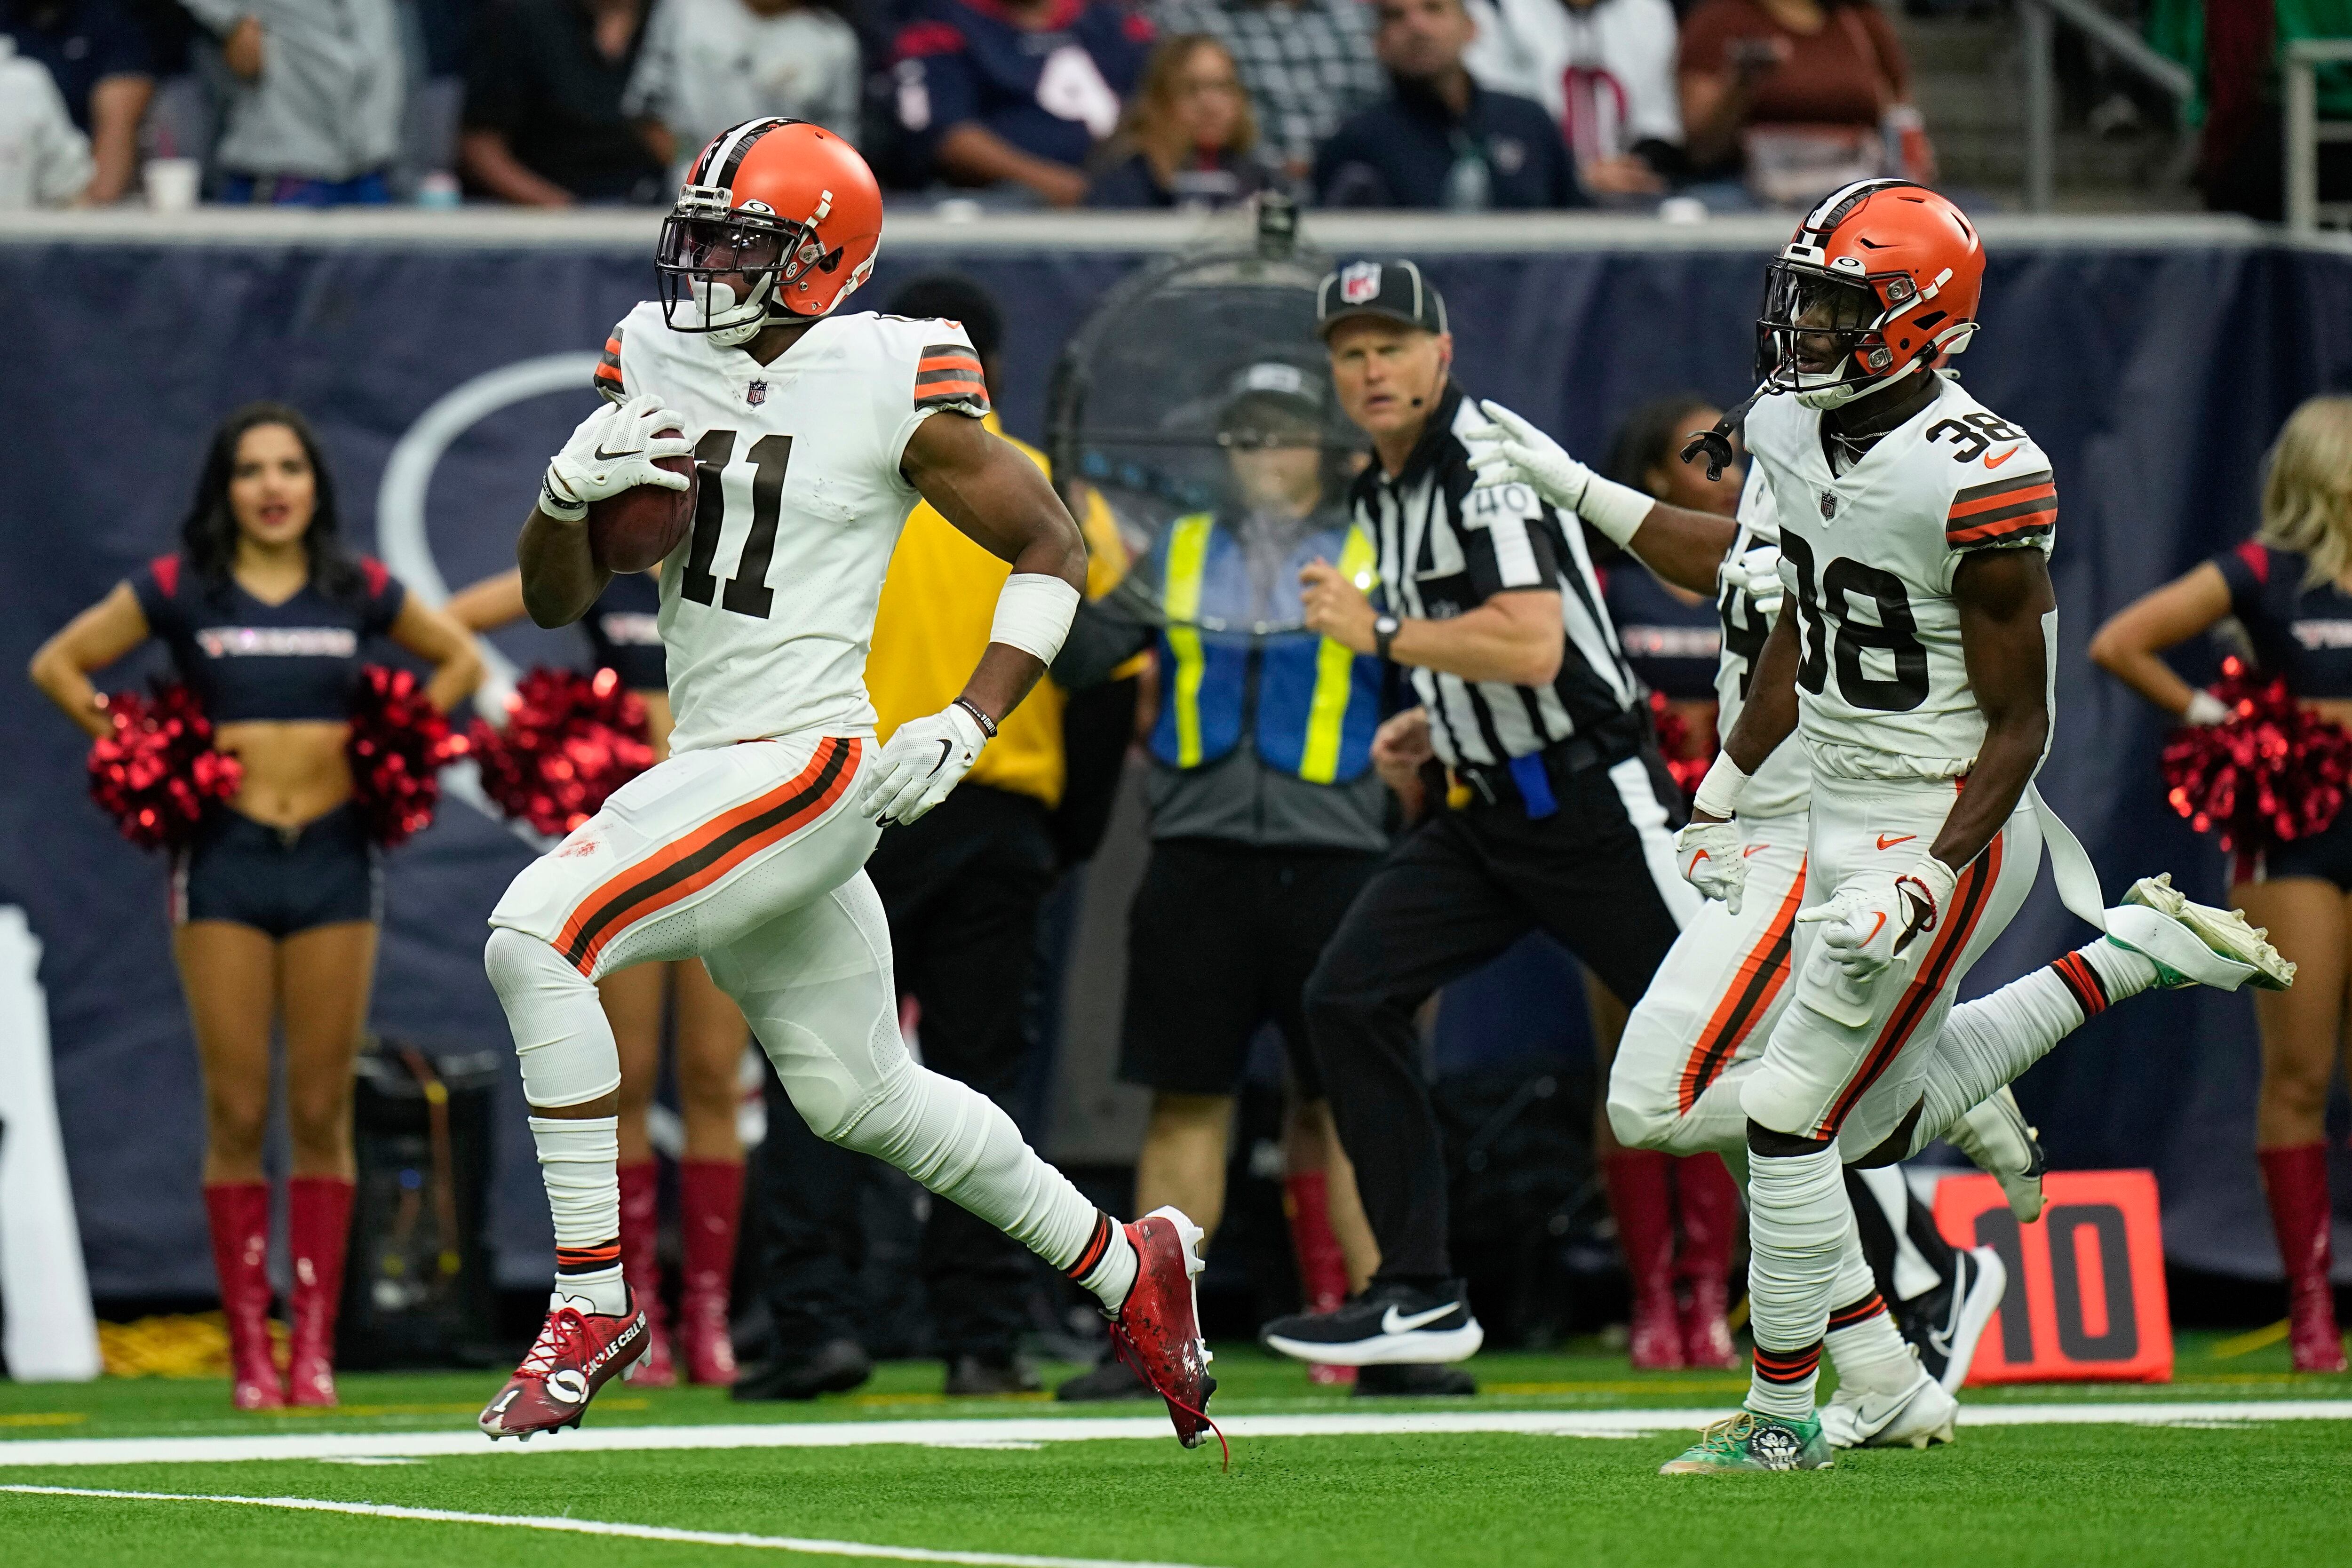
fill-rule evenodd
<path id="1" fill-rule="evenodd" d="M 1985 717 L 1959 649 L 1952 576 L 1976 550 L 2051 548 L 2058 489 L 2042 449 L 1955 381 L 1830 473 L 1820 411 L 1766 397 L 1748 449 L 1780 522 L 1799 616 L 1797 731 L 1842 778 L 1957 778 Z M 2049 654 L 2056 658 L 2056 637 Z"/>

